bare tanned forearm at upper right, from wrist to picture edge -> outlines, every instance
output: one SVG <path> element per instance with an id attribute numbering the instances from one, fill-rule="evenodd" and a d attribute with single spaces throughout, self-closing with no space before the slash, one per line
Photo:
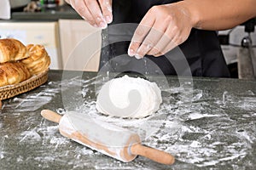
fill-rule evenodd
<path id="1" fill-rule="evenodd" d="M 256 17 L 256 0 L 184 0 L 193 27 L 225 30 Z"/>

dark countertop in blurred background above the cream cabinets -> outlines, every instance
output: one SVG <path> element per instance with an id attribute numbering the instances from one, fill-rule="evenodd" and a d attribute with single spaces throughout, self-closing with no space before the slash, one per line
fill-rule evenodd
<path id="1" fill-rule="evenodd" d="M 56 8 L 45 8 L 41 12 L 14 11 L 11 20 L 55 21 L 60 19 L 81 20 L 80 15 L 70 6 L 64 4 Z"/>

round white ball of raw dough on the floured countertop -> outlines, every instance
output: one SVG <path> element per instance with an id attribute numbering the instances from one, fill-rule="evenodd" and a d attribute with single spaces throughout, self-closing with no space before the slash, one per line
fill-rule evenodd
<path id="1" fill-rule="evenodd" d="M 104 84 L 97 96 L 97 111 L 120 117 L 142 118 L 159 110 L 160 88 L 143 78 L 119 77 Z"/>

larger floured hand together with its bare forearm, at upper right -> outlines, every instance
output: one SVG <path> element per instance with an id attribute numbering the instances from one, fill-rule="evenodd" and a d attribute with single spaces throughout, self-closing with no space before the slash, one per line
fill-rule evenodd
<path id="1" fill-rule="evenodd" d="M 219 31 L 256 17 L 256 0 L 184 0 L 150 8 L 137 27 L 128 54 L 160 56 L 184 42 L 191 28 Z"/>

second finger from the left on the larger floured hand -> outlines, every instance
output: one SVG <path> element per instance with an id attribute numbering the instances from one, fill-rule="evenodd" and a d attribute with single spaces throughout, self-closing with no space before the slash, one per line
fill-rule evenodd
<path id="1" fill-rule="evenodd" d="M 163 22 L 155 22 L 154 26 L 149 31 L 147 37 L 143 40 L 141 46 L 137 50 L 139 56 L 144 56 L 160 41 L 160 38 L 163 36 L 166 31 L 166 24 Z"/>

